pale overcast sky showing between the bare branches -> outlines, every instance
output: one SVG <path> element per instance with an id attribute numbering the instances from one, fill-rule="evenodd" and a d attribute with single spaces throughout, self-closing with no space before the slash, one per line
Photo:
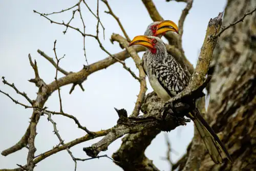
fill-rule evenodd
<path id="1" fill-rule="evenodd" d="M 142 35 L 146 27 L 152 23 L 152 19 L 141 1 L 114 1 L 110 0 L 109 4 L 114 13 L 120 18 L 123 27 L 130 38 L 136 35 Z M 81 35 L 71 29 L 66 35 L 62 31 L 66 28 L 50 24 L 48 20 L 33 13 L 37 10 L 42 13 L 50 13 L 71 7 L 77 1 L 0 1 L 0 76 L 5 76 L 9 82 L 14 82 L 20 91 L 25 91 L 32 99 L 36 97 L 37 88 L 33 83 L 27 80 L 34 77 L 34 72 L 29 65 L 28 54 L 36 59 L 39 75 L 45 82 L 50 83 L 54 80 L 55 68 L 46 59 L 41 57 L 36 51 L 40 49 L 46 54 L 54 57 L 53 42 L 57 40 L 57 55 L 59 57 L 66 54 L 65 58 L 60 61 L 60 66 L 66 71 L 79 71 L 86 61 L 83 56 L 83 44 Z M 173 20 L 178 23 L 182 9 L 185 3 L 154 1 L 157 9 L 164 19 Z M 91 9 L 96 12 L 96 1 L 88 1 Z M 207 23 L 210 18 L 218 15 L 224 10 L 226 1 L 204 0 L 195 1 L 193 8 L 184 24 L 183 48 L 186 57 L 195 66 L 200 48 L 205 36 Z M 82 6 L 82 14 L 86 23 L 88 34 L 95 34 L 97 20 Z M 114 18 L 105 14 L 107 10 L 103 3 L 99 4 L 100 18 L 105 27 L 105 40 L 101 37 L 103 46 L 111 53 L 121 51 L 119 45 L 111 44 L 109 41 L 111 34 L 118 33 L 122 35 Z M 51 16 L 58 22 L 65 20 L 67 22 L 72 16 L 72 12 L 57 14 Z M 79 16 L 72 23 L 76 27 L 81 26 Z M 102 30 L 100 30 L 102 35 Z M 100 50 L 94 38 L 86 38 L 86 53 L 90 63 L 101 60 L 108 55 Z M 142 56 L 143 53 L 139 55 Z M 125 60 L 127 66 L 131 67 L 136 74 L 138 71 L 132 59 Z M 61 74 L 58 74 L 62 76 Z M 131 113 L 136 101 L 136 95 L 139 93 L 139 83 L 130 73 L 122 68 L 122 65 L 116 63 L 106 70 L 98 71 L 88 77 L 83 82 L 84 92 L 76 87 L 70 95 L 71 85 L 61 88 L 63 110 L 66 113 L 76 116 L 81 124 L 87 126 L 91 131 L 108 129 L 116 124 L 118 116 L 114 111 L 115 108 L 124 108 Z M 147 82 L 148 92 L 152 91 L 150 84 Z M 9 93 L 20 102 L 27 103 L 22 97 L 18 96 L 11 88 L 0 83 L 0 89 Z M 27 103 L 28 104 L 28 103 Z M 25 133 L 29 125 L 31 109 L 24 109 L 16 105 L 8 97 L 0 94 L 0 151 L 15 144 Z M 57 91 L 54 92 L 45 106 L 51 111 L 59 110 L 59 101 Z M 57 122 L 57 129 L 65 142 L 84 135 L 84 132 L 77 129 L 73 120 L 53 116 Z M 57 137 L 53 134 L 53 126 L 47 121 L 46 116 L 42 116 L 37 125 L 37 136 L 35 145 L 37 148 L 36 155 L 48 151 L 54 145 L 58 144 Z M 168 133 L 172 143 L 172 148 L 178 154 L 172 154 L 172 160 L 177 161 L 186 151 L 186 147 L 194 135 L 193 123 L 186 126 L 180 126 L 176 130 Z M 88 158 L 82 151 L 82 147 L 90 146 L 92 143 L 99 141 L 101 138 L 81 143 L 71 148 L 73 155 L 79 158 Z M 111 156 L 120 146 L 121 139 L 116 140 L 109 146 L 108 151 L 101 152 L 100 155 L 108 154 Z M 158 135 L 150 146 L 146 149 L 146 156 L 154 161 L 154 164 L 160 170 L 168 170 L 169 165 L 161 157 L 166 155 L 166 145 L 164 134 Z M 7 157 L 0 156 L 0 168 L 16 168 L 16 164 L 26 164 L 28 149 L 11 154 Z M 35 170 L 73 170 L 74 162 L 67 151 L 62 151 L 47 159 L 41 161 L 35 167 Z M 122 170 L 116 166 L 110 159 L 101 158 L 89 160 L 86 162 L 78 161 L 77 170 Z"/>

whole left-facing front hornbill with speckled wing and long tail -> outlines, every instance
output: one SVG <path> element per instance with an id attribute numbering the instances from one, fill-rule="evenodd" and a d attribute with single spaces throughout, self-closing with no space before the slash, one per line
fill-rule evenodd
<path id="1" fill-rule="evenodd" d="M 181 74 L 184 73 L 182 72 L 183 69 L 177 64 L 175 58 L 168 57 L 168 52 L 161 38 L 140 35 L 134 37 L 129 46 L 133 45 L 142 45 L 146 48 L 143 55 L 145 59 L 144 69 L 151 87 L 162 101 L 168 101 L 186 88 L 188 82 Z M 187 78 L 187 80 L 189 79 Z M 194 121 L 211 159 L 217 164 L 223 163 L 221 153 L 224 152 L 232 162 L 226 147 L 196 108 L 195 101 L 191 104 L 191 111 L 186 116 Z"/>

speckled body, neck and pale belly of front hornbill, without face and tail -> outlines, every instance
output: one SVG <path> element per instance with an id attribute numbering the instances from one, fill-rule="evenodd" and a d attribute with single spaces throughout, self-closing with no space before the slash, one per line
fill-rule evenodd
<path id="1" fill-rule="evenodd" d="M 152 55 L 151 50 L 146 50 L 143 55 L 143 68 L 152 88 L 158 90 L 155 92 L 163 101 L 167 101 L 171 97 L 167 92 L 170 92 L 172 96 L 176 96 L 187 86 L 189 77 L 184 74 L 183 69 L 175 58 L 168 55 L 165 45 L 160 38 L 148 37 L 157 40 L 155 45 L 157 50 L 154 55 Z"/>

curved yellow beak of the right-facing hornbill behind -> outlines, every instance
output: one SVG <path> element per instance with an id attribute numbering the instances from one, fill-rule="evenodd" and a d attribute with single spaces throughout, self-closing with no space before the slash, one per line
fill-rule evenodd
<path id="1" fill-rule="evenodd" d="M 171 20 L 164 20 L 157 26 L 156 35 L 163 34 L 167 31 L 174 31 L 179 34 L 178 26 Z"/>

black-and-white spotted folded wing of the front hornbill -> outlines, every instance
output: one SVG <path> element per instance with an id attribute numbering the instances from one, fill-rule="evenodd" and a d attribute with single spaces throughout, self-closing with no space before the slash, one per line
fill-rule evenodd
<path id="1" fill-rule="evenodd" d="M 171 97 L 176 96 L 186 87 L 177 73 L 164 63 L 157 63 L 154 68 L 154 75 Z"/>

